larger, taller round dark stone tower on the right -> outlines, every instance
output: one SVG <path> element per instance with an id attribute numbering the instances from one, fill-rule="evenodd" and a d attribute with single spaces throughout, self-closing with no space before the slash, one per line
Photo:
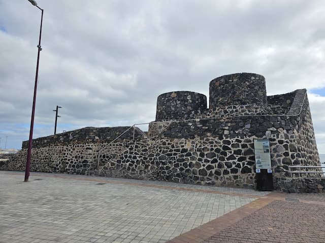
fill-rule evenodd
<path id="1" fill-rule="evenodd" d="M 234 73 L 213 79 L 209 86 L 211 116 L 267 114 L 265 77 Z"/>

